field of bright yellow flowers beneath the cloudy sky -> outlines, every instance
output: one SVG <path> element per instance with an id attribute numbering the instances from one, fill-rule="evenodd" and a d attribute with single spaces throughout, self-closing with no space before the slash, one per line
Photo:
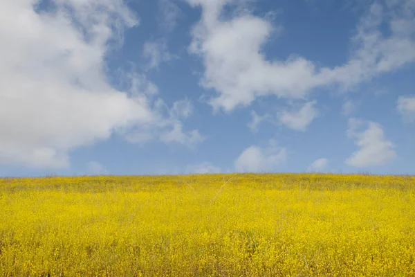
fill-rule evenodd
<path id="1" fill-rule="evenodd" d="M 0 276 L 415 276 L 415 177 L 0 179 Z"/>

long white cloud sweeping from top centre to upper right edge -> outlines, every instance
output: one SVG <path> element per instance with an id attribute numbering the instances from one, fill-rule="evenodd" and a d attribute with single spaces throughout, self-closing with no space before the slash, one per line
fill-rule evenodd
<path id="1" fill-rule="evenodd" d="M 304 98 L 316 87 L 331 84 L 347 89 L 415 61 L 415 12 L 413 6 L 408 8 L 412 0 L 396 1 L 394 9 L 386 11 L 378 3 L 371 6 L 352 38 L 355 50 L 349 62 L 334 68 L 319 68 L 298 56 L 266 60 L 262 47 L 278 27 L 246 11 L 223 17 L 225 6 L 241 1 L 187 1 L 202 7 L 190 51 L 203 57 L 201 83 L 218 93 L 210 99 L 215 111 L 246 107 L 261 96 Z M 382 35 L 383 23 L 391 26 L 390 36 Z"/>

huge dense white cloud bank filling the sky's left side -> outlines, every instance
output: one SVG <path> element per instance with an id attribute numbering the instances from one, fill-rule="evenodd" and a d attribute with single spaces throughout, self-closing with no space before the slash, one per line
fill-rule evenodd
<path id="1" fill-rule="evenodd" d="M 107 80 L 106 55 L 138 24 L 129 8 L 121 0 L 52 3 L 37 12 L 37 1 L 0 1 L 0 163 L 65 168 L 74 148 L 160 124 L 154 84 L 131 78 L 141 87 L 127 93 Z"/>

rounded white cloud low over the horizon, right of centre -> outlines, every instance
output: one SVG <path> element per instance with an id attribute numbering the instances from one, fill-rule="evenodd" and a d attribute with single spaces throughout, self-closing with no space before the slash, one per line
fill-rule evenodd
<path id="1" fill-rule="evenodd" d="M 285 163 L 286 159 L 286 148 L 279 148 L 275 143 L 270 143 L 266 148 L 250 146 L 235 161 L 235 169 L 237 172 L 271 172 Z"/>

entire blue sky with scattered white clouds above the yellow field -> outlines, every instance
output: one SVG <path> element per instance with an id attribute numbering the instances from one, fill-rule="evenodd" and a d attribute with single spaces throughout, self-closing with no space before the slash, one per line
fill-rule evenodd
<path id="1" fill-rule="evenodd" d="M 415 174 L 415 1 L 0 3 L 0 176 Z"/>

